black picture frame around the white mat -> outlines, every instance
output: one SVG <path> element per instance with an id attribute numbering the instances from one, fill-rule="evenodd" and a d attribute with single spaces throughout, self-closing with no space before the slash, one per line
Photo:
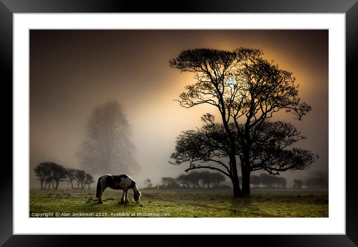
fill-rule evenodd
<path id="1" fill-rule="evenodd" d="M 240 235 L 234 236 L 241 243 L 265 246 L 357 246 L 358 245 L 358 192 L 355 189 L 357 168 L 353 144 L 358 134 L 358 120 L 354 117 L 356 78 L 355 64 L 358 58 L 358 0 L 184 0 L 180 2 L 143 2 L 115 0 L 0 0 L 0 71 L 1 97 L 0 129 L 2 130 L 2 157 L 9 158 L 2 163 L 0 173 L 1 210 L 0 244 L 3 246 L 64 246 L 80 240 L 81 245 L 92 246 L 103 243 L 103 236 L 96 235 L 13 235 L 12 234 L 12 14 L 14 13 L 345 13 L 346 35 L 346 235 Z M 334 44 L 329 44 L 334 45 Z M 11 105 L 11 107 L 10 107 Z M 343 110 L 343 109 L 342 109 Z M 349 143 L 351 143 L 349 145 Z M 329 150 L 334 152 L 334 150 Z M 11 157 L 10 157 L 11 154 Z M 344 164 L 337 164 L 344 168 Z M 329 171 L 331 172 L 331 171 Z M 5 198 L 5 199 L 4 199 Z M 118 222 L 120 224 L 120 222 Z M 50 226 L 49 226 L 50 227 Z M 96 227 L 95 225 L 93 227 Z M 119 227 L 119 225 L 118 225 Z M 213 226 L 215 227 L 215 226 Z M 224 226 L 219 226 L 224 227 Z M 273 226 L 274 227 L 274 226 Z M 289 226 L 287 226 L 289 227 Z M 155 245 L 183 245 L 187 236 L 170 236 L 170 244 L 158 241 L 157 236 L 129 236 L 119 244 L 155 243 Z M 79 239 L 77 239 L 79 238 Z M 156 239 L 154 239 L 156 238 Z M 105 236 L 106 241 L 118 241 L 120 236 Z M 206 236 L 211 244 L 222 244 L 219 236 Z M 201 240 L 200 240 L 201 241 Z M 227 238 L 225 237 L 225 242 Z M 74 243 L 74 242 L 73 242 Z M 98 243 L 99 244 L 99 243 Z M 135 244 L 135 245 L 137 245 Z M 227 242 L 228 244 L 228 242 Z M 201 245 L 201 244 L 200 244 Z"/>

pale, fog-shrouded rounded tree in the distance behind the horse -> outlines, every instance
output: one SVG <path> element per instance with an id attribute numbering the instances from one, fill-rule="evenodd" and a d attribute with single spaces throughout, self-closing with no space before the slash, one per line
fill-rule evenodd
<path id="1" fill-rule="evenodd" d="M 95 174 L 137 172 L 133 152 L 130 126 L 119 103 L 109 101 L 94 108 L 77 153 L 81 166 Z"/>

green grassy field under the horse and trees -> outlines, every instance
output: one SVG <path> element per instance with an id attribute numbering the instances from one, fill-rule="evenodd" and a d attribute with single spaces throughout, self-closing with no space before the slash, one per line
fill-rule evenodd
<path id="1" fill-rule="evenodd" d="M 95 189 L 31 189 L 29 216 L 50 212 L 53 215 L 48 216 L 55 217 L 57 212 L 60 217 L 328 217 L 327 190 L 254 188 L 248 198 L 233 198 L 230 190 L 140 191 L 139 204 L 133 202 L 131 190 L 131 203 L 119 204 L 121 190 L 107 188 L 104 203 L 97 204 Z"/>

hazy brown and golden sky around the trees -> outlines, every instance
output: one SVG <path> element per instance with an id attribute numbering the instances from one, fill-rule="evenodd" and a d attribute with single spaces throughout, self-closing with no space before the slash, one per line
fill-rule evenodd
<path id="1" fill-rule="evenodd" d="M 43 161 L 78 166 L 75 152 L 84 140 L 92 109 L 108 100 L 123 107 L 132 128 L 141 185 L 150 177 L 176 176 L 187 165 L 169 164 L 175 137 L 200 127 L 200 116 L 216 113 L 200 105 L 185 109 L 173 99 L 193 83 L 168 61 L 194 48 L 258 48 L 279 68 L 293 72 L 299 97 L 312 111 L 292 122 L 306 140 L 297 146 L 319 159 L 306 171 L 282 172 L 291 183 L 328 169 L 328 31 L 326 30 L 31 30 L 30 31 L 30 186 L 32 168 Z M 143 186 L 143 185 L 142 185 Z"/>

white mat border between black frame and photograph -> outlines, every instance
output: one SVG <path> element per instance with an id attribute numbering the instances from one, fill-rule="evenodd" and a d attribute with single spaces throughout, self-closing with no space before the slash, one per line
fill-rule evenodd
<path id="1" fill-rule="evenodd" d="M 344 14 L 14 14 L 13 27 L 13 234 L 345 234 Z M 29 218 L 29 29 L 329 29 L 329 217 Z"/>

